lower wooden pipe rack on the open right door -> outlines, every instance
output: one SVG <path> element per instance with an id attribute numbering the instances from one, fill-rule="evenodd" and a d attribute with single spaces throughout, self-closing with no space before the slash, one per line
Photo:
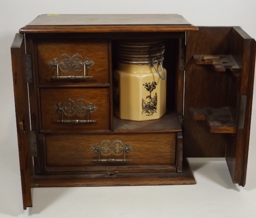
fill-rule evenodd
<path id="1" fill-rule="evenodd" d="M 236 124 L 228 107 L 220 109 L 190 107 L 189 110 L 191 119 L 207 122 L 210 133 L 236 133 Z"/>

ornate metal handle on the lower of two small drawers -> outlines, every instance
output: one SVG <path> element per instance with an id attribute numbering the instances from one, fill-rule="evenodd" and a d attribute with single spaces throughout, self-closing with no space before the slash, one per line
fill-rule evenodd
<path id="1" fill-rule="evenodd" d="M 61 120 L 55 120 L 56 123 L 94 123 L 95 120 L 90 120 L 90 114 L 98 109 L 97 106 L 92 106 L 92 103 L 86 103 L 83 99 L 78 99 L 77 101 L 72 101 L 71 99 L 66 99 L 63 103 L 58 103 L 52 107 L 57 113 L 61 113 Z M 72 117 L 77 115 L 78 117 L 85 117 L 87 115 L 87 120 L 72 119 L 64 120 L 63 115 L 67 117 Z"/>

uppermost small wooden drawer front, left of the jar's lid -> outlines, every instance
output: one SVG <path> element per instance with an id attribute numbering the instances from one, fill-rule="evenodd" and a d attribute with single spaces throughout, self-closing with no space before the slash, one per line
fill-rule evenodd
<path id="1" fill-rule="evenodd" d="M 69 39 L 69 40 L 38 40 L 38 77 L 40 85 L 49 84 L 105 84 L 108 79 L 108 41 L 99 39 Z M 68 55 L 66 57 L 62 55 Z M 72 58 L 73 55 L 80 55 Z M 61 57 L 62 56 L 62 57 Z M 61 57 L 61 58 L 60 58 Z M 82 59 L 81 59 L 82 57 Z M 53 59 L 59 64 L 58 75 L 62 78 L 56 78 L 57 70 Z M 93 61 L 94 64 L 89 69 L 86 68 L 86 75 L 92 78 L 76 78 L 71 76 L 83 76 L 84 64 Z M 64 60 L 66 59 L 66 60 Z M 77 60 L 76 60 L 77 59 Z M 64 62 L 67 62 L 65 65 Z M 78 64 L 79 62 L 79 64 Z M 82 65 L 80 65 L 82 63 Z M 91 62 L 89 62 L 91 63 Z M 77 65 L 78 64 L 78 65 Z M 66 68 L 65 68 L 66 67 Z M 64 71 L 62 72 L 61 69 Z M 70 70 L 70 71 L 69 71 Z M 76 72 L 75 72 L 75 71 Z M 54 77 L 54 78 L 52 78 Z"/>

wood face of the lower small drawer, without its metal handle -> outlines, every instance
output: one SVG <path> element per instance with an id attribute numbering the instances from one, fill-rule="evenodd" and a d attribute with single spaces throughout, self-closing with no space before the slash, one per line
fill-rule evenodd
<path id="1" fill-rule="evenodd" d="M 56 88 L 40 89 L 41 113 L 43 130 L 106 130 L 109 129 L 109 88 Z M 66 99 L 77 101 L 82 98 L 84 101 L 91 102 L 98 109 L 90 114 L 91 120 L 95 123 L 56 123 L 61 120 L 61 113 L 52 109 L 59 102 L 63 103 Z M 66 117 L 64 119 L 87 119 L 86 117 Z"/>

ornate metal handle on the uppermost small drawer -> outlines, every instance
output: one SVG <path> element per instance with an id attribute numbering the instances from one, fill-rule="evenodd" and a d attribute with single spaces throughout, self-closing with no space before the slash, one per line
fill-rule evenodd
<path id="1" fill-rule="evenodd" d="M 85 79 L 92 78 L 92 76 L 86 75 L 86 69 L 89 69 L 92 65 L 94 65 L 94 62 L 88 57 L 86 57 L 84 61 L 82 56 L 79 54 L 75 54 L 72 57 L 68 56 L 67 54 L 63 54 L 59 57 L 58 60 L 57 58 L 54 58 L 48 63 L 48 65 L 57 70 L 57 75 L 52 76 L 52 79 Z M 62 73 L 68 73 L 70 71 L 74 71 L 75 73 L 81 73 L 82 71 L 84 71 L 84 75 L 60 76 L 59 69 Z"/>

